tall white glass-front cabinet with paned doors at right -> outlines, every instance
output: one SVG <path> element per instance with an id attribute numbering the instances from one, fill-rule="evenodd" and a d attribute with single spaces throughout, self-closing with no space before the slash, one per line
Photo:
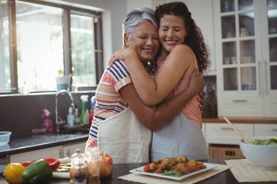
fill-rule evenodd
<path id="1" fill-rule="evenodd" d="M 214 0 L 219 116 L 277 117 L 277 0 Z"/>

